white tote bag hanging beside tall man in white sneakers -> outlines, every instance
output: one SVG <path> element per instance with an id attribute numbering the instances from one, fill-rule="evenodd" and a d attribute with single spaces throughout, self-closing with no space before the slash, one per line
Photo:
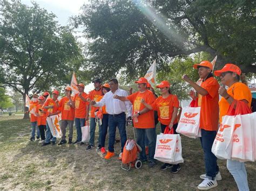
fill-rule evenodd
<path id="1" fill-rule="evenodd" d="M 200 107 L 185 107 L 180 116 L 176 132 L 190 138 L 197 138 L 199 133 Z"/>

